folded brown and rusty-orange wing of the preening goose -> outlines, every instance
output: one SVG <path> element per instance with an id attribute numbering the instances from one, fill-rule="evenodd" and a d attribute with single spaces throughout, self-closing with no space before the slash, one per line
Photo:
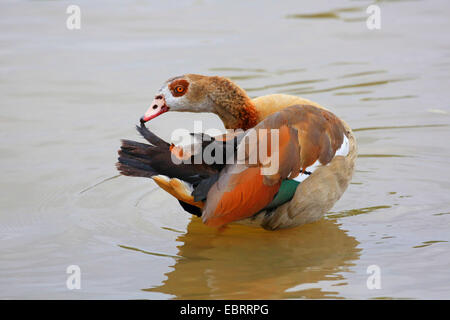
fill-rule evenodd
<path id="1" fill-rule="evenodd" d="M 203 221 L 221 226 L 251 217 L 272 201 L 284 179 L 328 164 L 345 136 L 339 118 L 315 106 L 294 105 L 270 115 L 246 133 L 237 163 L 224 167 L 210 187 Z"/>

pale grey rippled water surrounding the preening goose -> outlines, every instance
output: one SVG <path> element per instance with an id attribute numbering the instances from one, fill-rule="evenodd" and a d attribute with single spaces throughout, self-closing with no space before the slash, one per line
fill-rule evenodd
<path id="1" fill-rule="evenodd" d="M 448 1 L 0 4 L 0 298 L 450 298 Z M 121 138 L 167 78 L 301 95 L 354 128 L 351 185 L 321 221 L 218 234 L 145 179 Z M 193 129 L 204 114 L 150 128 Z M 66 268 L 81 268 L 81 289 Z M 381 270 L 381 289 L 366 286 Z"/>

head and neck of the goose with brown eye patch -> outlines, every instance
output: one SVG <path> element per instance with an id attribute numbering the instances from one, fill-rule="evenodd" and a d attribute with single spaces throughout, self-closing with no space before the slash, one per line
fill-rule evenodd
<path id="1" fill-rule="evenodd" d="M 185 74 L 167 80 L 140 121 L 146 123 L 168 111 L 214 113 L 227 129 L 249 129 L 258 122 L 245 91 L 218 76 Z"/>

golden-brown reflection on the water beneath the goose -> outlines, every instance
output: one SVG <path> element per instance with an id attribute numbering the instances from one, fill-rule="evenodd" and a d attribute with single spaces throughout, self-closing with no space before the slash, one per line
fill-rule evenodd
<path id="1" fill-rule="evenodd" d="M 360 251 L 354 237 L 325 219 L 276 232 L 241 225 L 217 232 L 193 218 L 177 241 L 182 244 L 173 270 L 162 285 L 144 291 L 176 299 L 336 297 L 337 292 L 318 288 L 292 288 L 330 279 L 342 282 L 341 272 L 349 271 Z"/>

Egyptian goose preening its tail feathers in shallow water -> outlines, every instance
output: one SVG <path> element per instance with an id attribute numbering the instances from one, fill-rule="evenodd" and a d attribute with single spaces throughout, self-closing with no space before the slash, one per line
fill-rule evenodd
<path id="1" fill-rule="evenodd" d="M 193 135 L 196 143 L 189 148 L 174 146 L 145 127 L 167 111 L 212 112 L 226 129 L 242 130 Z M 140 122 L 137 129 L 150 144 L 122 140 L 118 170 L 152 178 L 186 211 L 214 227 L 237 222 L 275 230 L 320 219 L 346 190 L 357 155 L 350 127 L 319 104 L 284 94 L 250 99 L 219 76 L 169 79 Z M 255 132 L 256 140 L 249 139 Z M 278 145 L 271 144 L 275 140 Z M 269 146 L 265 157 L 248 162 L 263 144 Z M 193 161 L 207 148 L 236 152 L 233 161 Z M 247 162 L 236 161 L 236 153 Z M 268 160 L 278 166 L 269 170 Z"/>

